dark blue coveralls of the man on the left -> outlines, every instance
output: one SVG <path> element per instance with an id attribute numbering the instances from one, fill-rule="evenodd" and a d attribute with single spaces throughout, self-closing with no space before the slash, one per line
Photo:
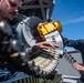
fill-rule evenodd
<path id="1" fill-rule="evenodd" d="M 14 28 L 12 28 L 12 37 L 11 39 L 17 39 L 21 42 L 20 38 L 18 37 L 18 32 Z M 22 49 L 25 46 L 21 42 Z M 10 69 L 8 65 L 0 64 L 0 83 L 12 83 L 17 80 L 21 80 L 24 77 L 29 77 L 29 75 L 24 74 L 23 72 L 18 72 L 12 69 Z"/>

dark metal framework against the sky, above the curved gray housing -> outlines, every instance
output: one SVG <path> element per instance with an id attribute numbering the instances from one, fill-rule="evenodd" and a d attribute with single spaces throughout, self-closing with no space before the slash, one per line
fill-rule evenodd
<path id="1" fill-rule="evenodd" d="M 35 15 L 46 21 L 51 20 L 55 0 L 24 0 L 20 13 L 31 17 Z"/>

